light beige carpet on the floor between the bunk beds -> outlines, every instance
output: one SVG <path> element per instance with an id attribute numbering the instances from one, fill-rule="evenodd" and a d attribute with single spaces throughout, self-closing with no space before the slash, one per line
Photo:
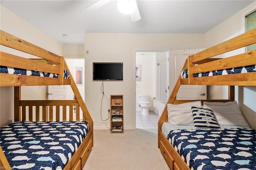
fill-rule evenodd
<path id="1" fill-rule="evenodd" d="M 83 170 L 169 170 L 157 144 L 157 128 L 94 130 L 94 146 Z"/>

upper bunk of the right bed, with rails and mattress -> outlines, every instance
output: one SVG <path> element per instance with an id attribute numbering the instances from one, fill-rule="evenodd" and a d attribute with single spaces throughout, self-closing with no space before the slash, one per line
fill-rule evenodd
<path id="1" fill-rule="evenodd" d="M 214 56 L 233 51 L 256 42 L 256 29 L 190 55 L 182 70 L 180 83 L 184 85 L 246 85 L 256 84 L 256 51 L 225 58 Z"/>

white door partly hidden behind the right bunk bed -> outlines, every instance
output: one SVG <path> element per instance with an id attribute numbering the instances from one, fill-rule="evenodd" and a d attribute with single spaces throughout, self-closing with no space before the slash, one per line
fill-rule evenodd
<path id="1" fill-rule="evenodd" d="M 170 51 L 170 87 L 174 85 L 180 76 L 185 60 L 189 55 L 202 51 L 202 49 L 185 49 Z M 207 99 L 206 85 L 181 85 L 177 94 L 177 100 Z"/>

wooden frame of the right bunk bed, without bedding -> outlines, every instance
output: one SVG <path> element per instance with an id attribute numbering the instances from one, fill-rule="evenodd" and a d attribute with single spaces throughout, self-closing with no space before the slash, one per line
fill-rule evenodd
<path id="1" fill-rule="evenodd" d="M 230 102 L 234 101 L 234 86 L 256 86 L 256 70 L 248 73 L 237 73 L 227 75 L 213 75 L 207 77 L 194 77 L 194 74 L 200 74 L 207 71 L 216 71 L 221 69 L 232 69 L 234 67 L 242 67 L 247 65 L 256 65 L 256 51 L 250 51 L 234 55 L 226 58 L 211 58 L 213 56 L 226 53 L 247 45 L 256 43 L 256 29 L 246 32 L 240 36 L 222 42 L 218 45 L 205 49 L 194 55 L 190 55 L 184 63 L 183 70 L 188 70 L 188 78 L 179 77 L 176 85 L 167 101 L 167 104 L 158 121 L 158 148 L 160 148 L 164 159 L 166 160 L 171 170 L 189 170 L 189 163 L 186 163 L 180 154 L 177 152 L 170 140 L 166 138 L 162 132 L 162 126 L 168 122 L 168 103 L 179 105 L 182 103 L 194 102 L 195 100 L 177 100 L 176 95 L 180 85 L 228 85 L 229 95 L 227 100 L 202 100 L 204 102 Z M 255 68 L 255 67 L 254 67 Z M 191 108 L 191 107 L 190 107 Z M 174 138 L 174 137 L 173 137 Z M 183 148 L 184 149 L 184 148 Z M 180 148 L 180 150 L 182 150 Z M 255 151 L 255 149 L 254 149 Z M 256 153 L 256 152 L 255 152 Z M 204 158 L 202 158 L 204 159 Z M 215 162 L 214 162 L 215 163 Z M 228 162 L 229 164 L 230 162 Z M 225 162 L 224 162 L 225 164 Z M 202 168 L 204 163 L 201 164 Z M 236 164 L 238 165 L 238 164 Z M 222 168 L 223 166 L 219 166 Z"/>

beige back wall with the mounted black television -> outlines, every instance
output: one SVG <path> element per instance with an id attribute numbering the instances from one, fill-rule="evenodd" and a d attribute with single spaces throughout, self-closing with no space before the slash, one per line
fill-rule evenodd
<path id="1" fill-rule="evenodd" d="M 94 120 L 95 129 L 107 129 L 100 119 L 102 82 L 92 81 L 93 62 L 123 62 L 124 81 L 105 81 L 104 93 L 124 95 L 124 128 L 135 128 L 135 51 L 170 51 L 171 49 L 203 48 L 203 34 L 133 34 L 86 33 L 85 51 L 85 103 Z M 103 119 L 107 117 L 108 104 L 103 101 Z M 107 123 L 109 127 L 109 122 Z"/>

